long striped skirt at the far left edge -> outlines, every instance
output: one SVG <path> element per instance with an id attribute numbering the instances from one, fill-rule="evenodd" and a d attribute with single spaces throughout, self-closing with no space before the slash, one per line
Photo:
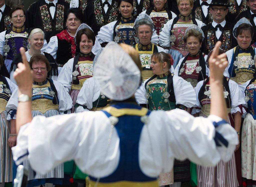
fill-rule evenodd
<path id="1" fill-rule="evenodd" d="M 0 114 L 0 183 L 12 182 L 13 156 L 11 148 L 7 145 L 10 135 L 10 121 L 8 113 L 3 111 Z"/>

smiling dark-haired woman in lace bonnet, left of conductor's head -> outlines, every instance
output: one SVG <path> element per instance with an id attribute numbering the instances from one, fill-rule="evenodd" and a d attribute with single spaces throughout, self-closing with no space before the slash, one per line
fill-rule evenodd
<path id="1" fill-rule="evenodd" d="M 86 24 L 81 24 L 77 29 L 75 41 L 80 48 L 80 53 L 63 66 L 57 79 L 69 91 L 73 100 L 72 112 L 84 81 L 92 77 L 93 60 L 101 48 L 94 32 Z"/>

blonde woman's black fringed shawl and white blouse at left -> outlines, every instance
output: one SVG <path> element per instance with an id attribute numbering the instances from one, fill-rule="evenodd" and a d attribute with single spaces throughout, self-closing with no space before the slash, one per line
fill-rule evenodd
<path id="1" fill-rule="evenodd" d="M 48 62 L 50 63 L 51 70 L 48 72 L 47 77 L 51 78 L 53 80 L 57 80 L 58 66 L 57 66 L 54 58 L 47 52 L 42 52 L 41 51 L 40 54 L 44 55 L 47 58 Z M 25 55 L 26 55 L 27 61 L 29 62 L 30 58 L 31 58 L 31 56 L 29 54 L 29 50 L 25 52 Z M 20 53 L 13 59 L 12 64 L 11 64 L 10 80 L 15 84 L 16 84 L 16 81 L 13 78 L 13 73 L 18 68 L 18 63 L 19 62 L 22 62 L 22 58 L 21 58 Z"/>

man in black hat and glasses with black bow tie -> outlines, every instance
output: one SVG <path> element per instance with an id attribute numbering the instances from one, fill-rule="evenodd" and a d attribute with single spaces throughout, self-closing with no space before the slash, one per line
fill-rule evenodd
<path id="1" fill-rule="evenodd" d="M 205 33 L 205 38 L 202 41 L 202 51 L 208 54 L 217 41 L 222 41 L 221 48 L 226 52 L 237 46 L 237 41 L 232 34 L 234 24 L 225 20 L 228 14 L 227 1 L 212 0 L 209 6 L 213 21 L 211 24 L 202 27 L 202 31 Z"/>

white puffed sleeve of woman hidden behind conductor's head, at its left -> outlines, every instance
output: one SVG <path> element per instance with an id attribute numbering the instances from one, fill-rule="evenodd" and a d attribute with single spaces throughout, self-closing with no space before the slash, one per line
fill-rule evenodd
<path id="1" fill-rule="evenodd" d="M 100 96 L 99 87 L 94 79 L 91 77 L 84 81 L 83 86 L 77 95 L 76 103 L 80 106 L 77 107 L 76 112 L 83 112 L 92 109 L 92 103 L 96 101 Z M 84 107 L 86 108 L 84 108 Z"/>

